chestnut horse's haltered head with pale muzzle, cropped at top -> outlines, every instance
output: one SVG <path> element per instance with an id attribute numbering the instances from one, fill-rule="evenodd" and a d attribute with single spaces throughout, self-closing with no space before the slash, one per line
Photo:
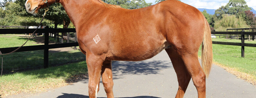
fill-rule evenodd
<path id="1" fill-rule="evenodd" d="M 55 3 L 57 0 L 27 0 L 25 7 L 28 13 L 37 14 L 38 9 L 50 6 Z"/>

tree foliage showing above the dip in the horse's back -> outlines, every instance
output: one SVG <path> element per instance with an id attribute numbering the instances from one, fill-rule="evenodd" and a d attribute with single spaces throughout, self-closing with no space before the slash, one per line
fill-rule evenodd
<path id="1" fill-rule="evenodd" d="M 137 9 L 151 6 L 152 3 L 146 3 L 145 0 L 102 0 L 111 5 L 118 5 L 126 9 Z"/>

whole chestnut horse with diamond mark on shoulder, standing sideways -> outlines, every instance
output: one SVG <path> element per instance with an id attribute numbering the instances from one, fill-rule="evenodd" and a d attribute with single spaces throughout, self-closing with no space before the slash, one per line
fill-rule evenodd
<path id="1" fill-rule="evenodd" d="M 26 9 L 36 14 L 47 0 L 27 0 Z M 140 9 L 124 9 L 101 0 L 48 0 L 61 3 L 75 25 L 81 52 L 86 55 L 89 97 L 99 91 L 100 76 L 108 98 L 113 98 L 111 60 L 140 61 L 163 49 L 177 73 L 182 98 L 192 78 L 199 98 L 205 98 L 205 78 L 212 66 L 211 32 L 203 14 L 177 0 Z M 202 67 L 198 50 L 202 43 Z"/>

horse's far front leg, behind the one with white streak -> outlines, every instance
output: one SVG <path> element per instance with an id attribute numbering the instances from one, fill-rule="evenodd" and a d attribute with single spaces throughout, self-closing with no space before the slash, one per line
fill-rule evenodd
<path id="1" fill-rule="evenodd" d="M 114 98 L 111 61 L 104 61 L 101 69 L 102 83 L 108 98 Z"/>

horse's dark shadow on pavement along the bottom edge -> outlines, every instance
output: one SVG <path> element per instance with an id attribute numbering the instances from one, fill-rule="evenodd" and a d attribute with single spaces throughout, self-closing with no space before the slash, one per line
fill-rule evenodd
<path id="1" fill-rule="evenodd" d="M 80 95 L 80 94 L 68 94 L 62 93 L 63 95 L 58 96 L 57 98 L 89 98 L 89 96 Z M 99 97 L 105 98 L 105 97 Z M 136 96 L 136 97 L 119 97 L 119 98 L 160 98 L 160 97 L 153 97 L 153 96 Z"/>

